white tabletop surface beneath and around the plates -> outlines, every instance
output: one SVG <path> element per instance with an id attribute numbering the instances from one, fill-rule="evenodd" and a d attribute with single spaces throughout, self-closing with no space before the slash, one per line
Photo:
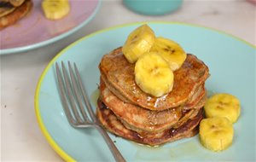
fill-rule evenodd
<path id="1" fill-rule="evenodd" d="M 146 16 L 126 9 L 121 0 L 103 0 L 96 17 L 73 35 L 40 49 L 1 55 L 1 160 L 62 161 L 38 127 L 34 94 L 44 67 L 69 43 L 110 26 L 164 20 L 215 28 L 255 45 L 255 10 L 243 0 L 187 0 L 172 14 Z"/>

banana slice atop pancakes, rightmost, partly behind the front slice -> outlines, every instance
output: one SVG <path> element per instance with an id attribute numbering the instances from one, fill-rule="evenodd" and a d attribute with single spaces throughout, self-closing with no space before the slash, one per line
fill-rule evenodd
<path id="1" fill-rule="evenodd" d="M 162 37 L 155 39 L 150 51 L 159 52 L 159 54 L 169 63 L 172 71 L 181 67 L 187 58 L 187 54 L 178 43 Z"/>

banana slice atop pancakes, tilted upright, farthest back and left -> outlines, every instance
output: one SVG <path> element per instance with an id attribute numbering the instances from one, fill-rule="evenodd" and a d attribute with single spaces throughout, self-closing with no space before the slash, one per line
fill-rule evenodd
<path id="1" fill-rule="evenodd" d="M 137 27 L 131 32 L 122 48 L 125 58 L 134 63 L 145 52 L 148 52 L 154 43 L 154 32 L 148 25 Z"/>

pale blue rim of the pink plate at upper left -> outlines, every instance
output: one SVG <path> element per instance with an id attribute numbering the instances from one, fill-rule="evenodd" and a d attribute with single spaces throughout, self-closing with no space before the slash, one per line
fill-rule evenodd
<path id="1" fill-rule="evenodd" d="M 98 3 L 96 4 L 96 9 L 92 12 L 92 14 L 90 14 L 88 19 L 84 20 L 81 24 L 79 24 L 79 26 L 75 26 L 71 30 L 68 30 L 67 32 L 61 33 L 61 35 L 58 35 L 58 36 L 53 37 L 53 38 L 49 38 L 49 39 L 44 40 L 44 41 L 39 42 L 39 43 L 32 43 L 30 45 L 15 47 L 15 48 L 11 48 L 11 49 L 0 49 L 0 55 L 15 54 L 15 53 L 18 53 L 18 52 L 26 52 L 28 50 L 38 49 L 38 48 L 44 47 L 44 46 L 46 46 L 50 43 L 55 43 L 56 41 L 59 41 L 63 38 L 66 38 L 67 36 L 73 34 L 73 32 L 79 31 L 80 28 L 82 28 L 83 26 L 88 24 L 90 22 L 90 20 L 92 20 L 96 16 L 96 14 L 98 13 L 100 7 L 102 6 L 102 0 L 97 0 L 97 1 L 98 1 Z"/>

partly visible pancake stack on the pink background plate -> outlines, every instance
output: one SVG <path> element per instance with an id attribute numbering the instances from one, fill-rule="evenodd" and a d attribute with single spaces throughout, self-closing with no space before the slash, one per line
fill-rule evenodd
<path id="1" fill-rule="evenodd" d="M 15 24 L 32 9 L 32 0 L 0 0 L 0 30 Z"/>

